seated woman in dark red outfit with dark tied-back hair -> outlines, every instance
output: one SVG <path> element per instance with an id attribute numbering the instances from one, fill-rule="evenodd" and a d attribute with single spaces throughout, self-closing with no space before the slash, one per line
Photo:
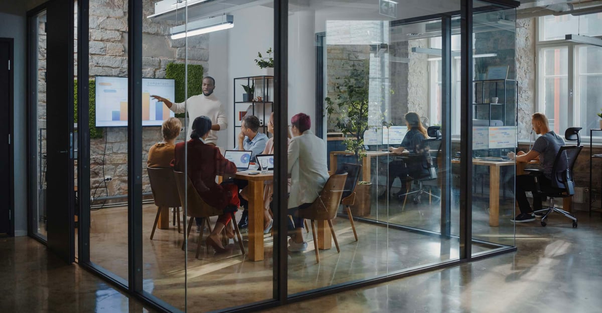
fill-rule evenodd
<path id="1" fill-rule="evenodd" d="M 186 162 L 185 148 L 188 147 L 187 170 L 194 189 L 199 192 L 200 198 L 210 206 L 224 210 L 217 218 L 213 232 L 207 237 L 207 245 L 211 245 L 217 252 L 226 251 L 220 241 L 220 233 L 232 220 L 232 212 L 238 210 L 238 188 L 232 183 L 216 183 L 216 176 L 220 174 L 235 174 L 236 165 L 226 160 L 219 148 L 205 144 L 205 139 L 211 130 L 211 119 L 199 116 L 194 119 L 192 133 L 188 142 L 179 142 L 175 148 L 173 169 L 183 172 Z M 197 224 L 199 220 L 197 220 Z M 229 232 L 228 232 L 229 231 Z M 234 233 L 226 228 L 226 234 L 232 238 Z"/>

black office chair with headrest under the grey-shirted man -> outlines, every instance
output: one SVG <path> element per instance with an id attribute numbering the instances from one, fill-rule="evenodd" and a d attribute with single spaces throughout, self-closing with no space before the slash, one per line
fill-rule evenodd
<path id="1" fill-rule="evenodd" d="M 565 131 L 565 139 L 568 141 L 577 141 L 577 145 L 563 145 L 558 150 L 556 159 L 554 159 L 554 166 L 552 168 L 552 183 L 551 186 L 541 186 L 538 182 L 538 177 L 542 177 L 544 172 L 541 169 L 525 169 L 530 175 L 535 176 L 536 191 L 542 197 L 550 198 L 550 206 L 545 209 L 536 210 L 533 213 L 544 213 L 541 218 L 541 226 L 547 225 L 546 221 L 548 215 L 551 212 L 561 213 L 565 217 L 573 220 L 573 228 L 577 227 L 577 218 L 574 214 L 566 212 L 565 210 L 554 207 L 554 198 L 566 198 L 571 197 L 575 194 L 575 183 L 573 180 L 573 166 L 577 160 L 577 156 L 581 152 L 583 146 L 581 144 L 581 136 L 579 131 L 581 127 L 569 127 Z"/>

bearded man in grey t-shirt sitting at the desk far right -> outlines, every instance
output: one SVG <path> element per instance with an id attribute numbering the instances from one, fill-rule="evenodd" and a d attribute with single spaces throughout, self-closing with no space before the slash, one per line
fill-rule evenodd
<path id="1" fill-rule="evenodd" d="M 531 160 L 539 160 L 544 171 L 545 177 L 539 178 L 539 186 L 545 188 L 551 186 L 552 179 L 552 168 L 554 166 L 554 160 L 560 147 L 565 145 L 565 142 L 550 130 L 548 125 L 548 118 L 545 117 L 544 113 L 535 113 L 532 115 L 531 124 L 533 124 L 533 130 L 536 134 L 542 134 L 533 144 L 533 148 L 528 152 L 518 151 L 517 155 L 513 152 L 508 153 L 510 160 L 516 160 L 517 162 L 529 163 Z M 535 191 L 535 177 L 532 175 L 518 175 L 517 176 L 517 203 L 521 213 L 517 217 L 512 218 L 510 221 L 516 223 L 525 223 L 535 221 L 535 215 L 533 211 L 541 210 L 541 195 L 533 192 L 533 210 L 529 206 L 529 200 L 527 200 L 527 191 Z M 538 216 L 539 217 L 539 216 Z"/>

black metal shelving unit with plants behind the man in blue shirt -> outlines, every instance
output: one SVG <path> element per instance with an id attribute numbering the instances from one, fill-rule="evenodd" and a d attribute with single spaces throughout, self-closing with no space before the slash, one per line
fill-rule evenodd
<path id="1" fill-rule="evenodd" d="M 241 85 L 255 84 L 253 97 L 261 96 L 261 101 L 243 101 L 244 89 Z M 234 78 L 234 142 L 237 142 L 243 114 L 252 114 L 259 118 L 261 133 L 267 133 L 267 121 L 273 111 L 272 95 L 274 91 L 274 77 L 267 75 L 246 76 Z M 249 111 L 250 108 L 250 111 Z M 247 113 L 248 112 L 248 113 Z"/>

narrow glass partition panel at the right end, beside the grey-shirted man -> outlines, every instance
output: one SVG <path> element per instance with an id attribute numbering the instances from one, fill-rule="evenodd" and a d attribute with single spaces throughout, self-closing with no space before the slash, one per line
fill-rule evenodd
<path id="1" fill-rule="evenodd" d="M 514 245 L 518 85 L 515 9 L 473 1 L 473 255 Z"/>

